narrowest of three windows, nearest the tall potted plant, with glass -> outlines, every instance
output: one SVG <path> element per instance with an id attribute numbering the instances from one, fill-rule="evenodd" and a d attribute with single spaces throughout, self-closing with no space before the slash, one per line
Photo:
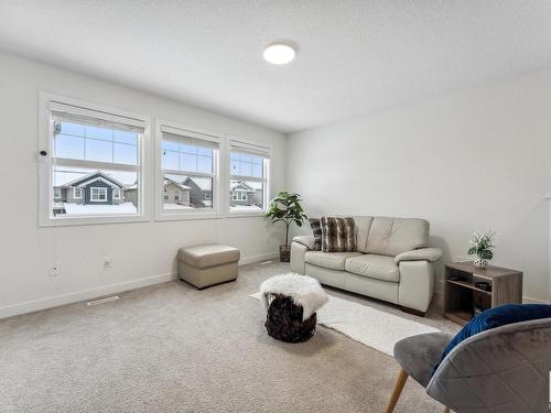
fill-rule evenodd
<path id="1" fill-rule="evenodd" d="M 262 211 L 268 203 L 270 149 L 230 141 L 229 210 Z"/>

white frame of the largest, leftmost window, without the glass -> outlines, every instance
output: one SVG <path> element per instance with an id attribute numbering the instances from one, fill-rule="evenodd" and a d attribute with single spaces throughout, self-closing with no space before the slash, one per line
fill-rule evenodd
<path id="1" fill-rule="evenodd" d="M 60 160 L 54 162 L 53 153 L 53 128 L 54 121 L 52 110 L 64 110 L 73 115 L 90 116 L 106 121 L 123 122 L 143 128 L 143 134 L 138 142 L 138 162 L 137 165 L 122 165 L 82 161 L 82 160 L 62 160 L 67 166 L 78 166 L 97 169 L 101 166 L 105 170 L 128 170 L 138 175 L 138 213 L 137 214 L 97 214 L 83 216 L 53 215 L 53 167 L 60 164 Z M 147 199 L 151 198 L 148 187 L 148 164 L 149 149 L 151 146 L 151 120 L 137 113 L 131 113 L 120 109 L 90 104 L 84 100 L 58 96 L 41 91 L 39 94 L 39 152 L 45 151 L 45 156 L 39 154 L 39 226 L 56 227 L 73 225 L 95 225 L 114 222 L 133 222 L 150 220 L 150 204 Z"/>

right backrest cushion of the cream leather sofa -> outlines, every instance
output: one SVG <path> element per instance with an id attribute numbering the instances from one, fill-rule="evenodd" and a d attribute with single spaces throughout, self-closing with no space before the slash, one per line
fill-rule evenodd
<path id="1" fill-rule="evenodd" d="M 424 219 L 375 217 L 365 252 L 396 257 L 428 242 L 429 222 Z"/>

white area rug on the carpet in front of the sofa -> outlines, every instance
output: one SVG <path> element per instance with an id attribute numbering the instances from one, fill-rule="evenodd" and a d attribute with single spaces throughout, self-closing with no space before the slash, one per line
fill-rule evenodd
<path id="1" fill-rule="evenodd" d="M 260 293 L 250 296 L 260 301 Z M 317 312 L 317 324 L 389 356 L 393 356 L 395 344 L 402 338 L 440 332 L 437 328 L 333 295 L 329 295 L 327 304 Z"/>

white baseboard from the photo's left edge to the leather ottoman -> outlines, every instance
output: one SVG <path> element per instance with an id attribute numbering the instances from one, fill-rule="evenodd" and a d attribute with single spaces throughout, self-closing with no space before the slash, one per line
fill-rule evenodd
<path id="1" fill-rule="evenodd" d="M 90 298 L 97 298 L 104 295 L 121 293 L 123 291 L 141 289 L 143 286 L 175 280 L 176 278 L 177 274 L 173 273 L 145 276 L 138 280 L 125 281 L 121 283 L 102 285 L 95 289 L 77 291 L 74 293 L 61 294 L 52 297 L 8 305 L 4 307 L 0 307 L 0 318 L 12 317 L 14 315 L 32 313 L 45 308 L 58 307 L 60 305 L 76 303 L 79 301 L 85 301 Z"/>

